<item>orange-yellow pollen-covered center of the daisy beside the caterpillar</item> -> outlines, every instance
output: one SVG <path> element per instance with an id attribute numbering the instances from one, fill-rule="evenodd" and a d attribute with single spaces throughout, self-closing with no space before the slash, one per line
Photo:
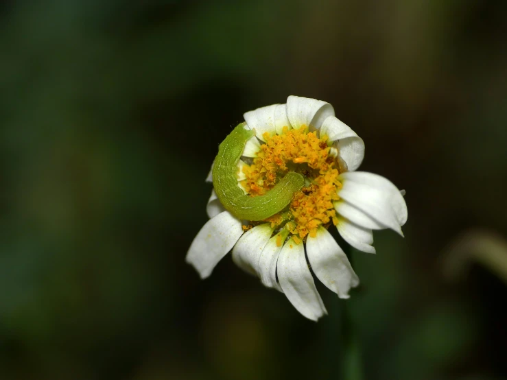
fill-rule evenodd
<path id="1" fill-rule="evenodd" d="M 344 169 L 329 154 L 327 137 L 317 134 L 308 132 L 306 126 L 292 130 L 284 127 L 282 134 L 274 136 L 266 132 L 266 143 L 252 165 L 242 169 L 246 179 L 240 185 L 252 197 L 272 189 L 288 171 L 305 176 L 305 187 L 294 194 L 288 209 L 266 219 L 272 227 L 285 225 L 297 244 L 307 235 L 315 237 L 319 226 L 338 224 L 333 202 L 339 199 L 337 191 L 342 184 L 338 175 Z"/>

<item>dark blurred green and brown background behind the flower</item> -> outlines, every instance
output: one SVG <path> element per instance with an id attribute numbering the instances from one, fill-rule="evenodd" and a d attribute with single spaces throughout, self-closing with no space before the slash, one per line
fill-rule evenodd
<path id="1" fill-rule="evenodd" d="M 0 2 L 0 379 L 507 378 L 507 2 Z M 185 264 L 217 145 L 323 99 L 405 189 L 405 239 L 298 315 Z M 358 377 L 359 378 L 359 377 Z"/>

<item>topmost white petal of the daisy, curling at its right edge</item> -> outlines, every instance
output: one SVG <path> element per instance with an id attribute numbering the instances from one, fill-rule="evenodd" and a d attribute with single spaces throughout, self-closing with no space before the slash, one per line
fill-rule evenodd
<path id="1" fill-rule="evenodd" d="M 322 100 L 294 95 L 287 97 L 287 117 L 292 128 L 307 126 L 318 129 L 327 117 L 334 114 L 333 106 Z"/>

